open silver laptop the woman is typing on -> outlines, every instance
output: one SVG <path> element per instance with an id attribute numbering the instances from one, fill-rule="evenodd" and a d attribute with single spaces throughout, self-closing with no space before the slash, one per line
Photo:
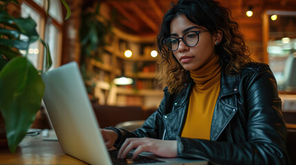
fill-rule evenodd
<path id="1" fill-rule="evenodd" d="M 41 76 L 46 85 L 43 102 L 63 151 L 89 164 L 113 164 L 77 63 L 68 63 Z M 148 164 L 208 164 L 198 159 L 141 155 L 161 161 Z"/>

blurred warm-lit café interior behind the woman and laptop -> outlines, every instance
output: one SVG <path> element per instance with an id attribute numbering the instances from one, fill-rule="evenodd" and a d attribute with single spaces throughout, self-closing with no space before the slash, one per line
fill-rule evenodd
<path id="1" fill-rule="evenodd" d="M 77 61 L 89 98 L 98 106 L 157 109 L 164 85 L 155 85 L 155 38 L 170 0 L 20 0 L 10 10 L 37 22 L 49 43 L 52 68 Z M 296 111 L 296 1 L 219 0 L 230 8 L 255 61 L 267 63 L 277 78 L 283 111 Z M 43 46 L 30 45 L 30 60 L 42 69 Z M 120 79 L 119 79 L 120 78 Z"/>

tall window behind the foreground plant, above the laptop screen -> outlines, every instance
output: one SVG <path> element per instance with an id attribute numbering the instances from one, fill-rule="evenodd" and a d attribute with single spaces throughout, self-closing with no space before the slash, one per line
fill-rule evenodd
<path id="1" fill-rule="evenodd" d="M 52 58 L 52 67 L 59 67 L 61 64 L 61 29 L 63 25 L 63 17 L 61 12 L 60 1 L 50 1 L 50 10 L 47 10 L 46 0 L 25 0 L 21 5 L 21 16 L 32 17 L 37 23 L 37 32 L 43 41 L 48 43 Z M 26 52 L 21 52 L 25 54 Z M 29 47 L 28 58 L 37 69 L 44 67 L 44 49 L 43 45 L 37 41 Z"/>

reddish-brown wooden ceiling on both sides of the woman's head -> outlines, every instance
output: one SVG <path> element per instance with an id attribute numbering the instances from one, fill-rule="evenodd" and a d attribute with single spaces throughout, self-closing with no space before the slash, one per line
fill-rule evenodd
<path id="1" fill-rule="evenodd" d="M 94 0 L 106 3 L 115 13 L 115 25 L 120 30 L 139 36 L 155 36 L 164 13 L 172 0 Z M 175 1 L 175 0 L 174 0 Z M 254 19 L 261 19 L 266 10 L 296 10 L 296 0 L 219 0 L 228 6 L 233 17 L 243 23 L 247 20 L 246 10 L 254 10 Z"/>

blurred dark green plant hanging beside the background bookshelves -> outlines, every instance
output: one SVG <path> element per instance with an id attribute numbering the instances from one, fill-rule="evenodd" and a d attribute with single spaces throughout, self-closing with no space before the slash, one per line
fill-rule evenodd
<path id="1" fill-rule="evenodd" d="M 83 80 L 88 81 L 93 77 L 92 72 L 86 70 L 87 58 L 94 58 L 96 61 L 101 61 L 101 54 L 104 52 L 106 43 L 106 35 L 111 31 L 110 21 L 103 19 L 99 14 L 100 3 L 95 5 L 95 10 L 90 10 L 93 4 L 87 4 L 81 13 L 81 27 L 79 30 L 81 43 L 81 74 Z M 88 93 L 91 93 L 95 84 L 88 86 Z M 96 99 L 96 98 L 92 98 Z"/>

